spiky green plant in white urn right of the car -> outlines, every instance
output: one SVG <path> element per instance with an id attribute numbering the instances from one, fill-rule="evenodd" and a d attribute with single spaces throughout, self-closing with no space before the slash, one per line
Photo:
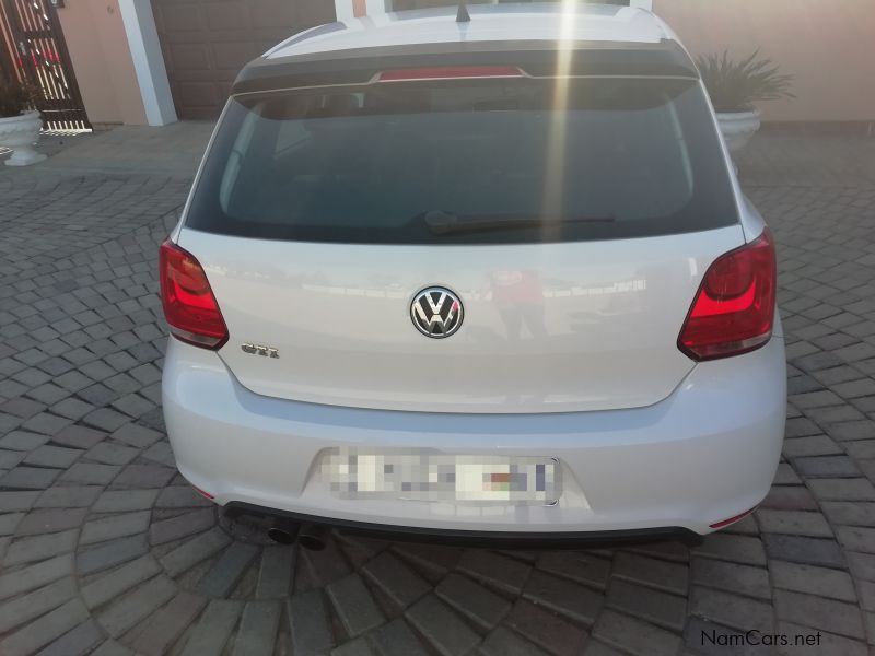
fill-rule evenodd
<path id="1" fill-rule="evenodd" d="M 759 50 L 755 50 L 734 61 L 723 52 L 696 62 L 731 152 L 742 150 L 759 130 L 760 113 L 755 103 L 796 97 L 790 93 L 793 75 L 779 73 L 771 60 L 758 57 Z"/>

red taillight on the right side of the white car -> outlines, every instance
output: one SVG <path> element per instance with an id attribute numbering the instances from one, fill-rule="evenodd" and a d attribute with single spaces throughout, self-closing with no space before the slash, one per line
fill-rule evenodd
<path id="1" fill-rule="evenodd" d="M 772 335 L 777 278 L 768 230 L 722 255 L 704 274 L 678 348 L 693 360 L 716 360 L 763 345 Z"/>

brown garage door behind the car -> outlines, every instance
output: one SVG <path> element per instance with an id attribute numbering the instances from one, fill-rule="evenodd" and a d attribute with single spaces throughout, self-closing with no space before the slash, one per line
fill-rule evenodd
<path id="1" fill-rule="evenodd" d="M 215 118 L 244 63 L 335 21 L 331 0 L 152 0 L 179 118 Z"/>

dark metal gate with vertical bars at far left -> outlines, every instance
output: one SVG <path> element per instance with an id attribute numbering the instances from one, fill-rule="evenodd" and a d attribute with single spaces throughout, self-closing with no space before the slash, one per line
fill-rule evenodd
<path id="1" fill-rule="evenodd" d="M 48 130 L 88 130 L 82 94 L 73 77 L 55 4 L 59 0 L 0 0 L 18 77 L 43 91 L 37 108 Z"/>

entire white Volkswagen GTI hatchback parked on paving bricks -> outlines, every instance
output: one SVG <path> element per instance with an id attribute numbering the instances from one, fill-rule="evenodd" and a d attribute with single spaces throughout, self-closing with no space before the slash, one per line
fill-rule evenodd
<path id="1" fill-rule="evenodd" d="M 280 44 L 234 84 L 161 284 L 167 432 L 228 507 L 696 538 L 779 460 L 772 238 L 645 11 L 399 12 Z"/>

